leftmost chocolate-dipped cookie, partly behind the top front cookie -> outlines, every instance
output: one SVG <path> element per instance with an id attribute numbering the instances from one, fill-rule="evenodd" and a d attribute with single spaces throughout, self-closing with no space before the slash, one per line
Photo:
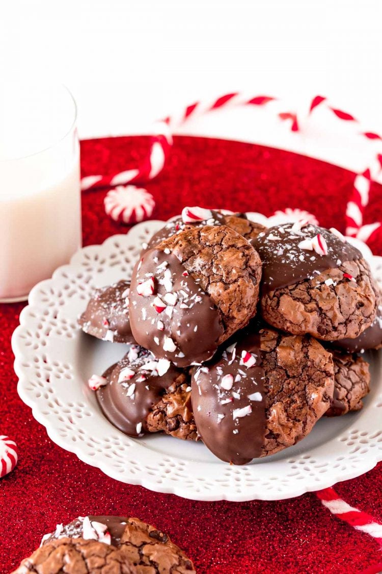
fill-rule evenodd
<path id="1" fill-rule="evenodd" d="M 129 281 L 97 289 L 78 323 L 82 331 L 97 339 L 135 343 L 129 320 Z"/>

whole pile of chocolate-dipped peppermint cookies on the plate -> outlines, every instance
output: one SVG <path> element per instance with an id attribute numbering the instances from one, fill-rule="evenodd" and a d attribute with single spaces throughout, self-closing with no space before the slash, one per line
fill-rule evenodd
<path id="1" fill-rule="evenodd" d="M 362 408 L 382 343 L 368 263 L 336 229 L 265 228 L 184 208 L 143 246 L 127 280 L 80 317 L 127 354 L 93 375 L 100 408 L 129 436 L 203 440 L 245 464 L 296 444 L 324 414 Z"/>

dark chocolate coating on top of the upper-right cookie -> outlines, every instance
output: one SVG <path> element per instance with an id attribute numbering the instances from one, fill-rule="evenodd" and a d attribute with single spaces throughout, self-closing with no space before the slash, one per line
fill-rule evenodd
<path id="1" fill-rule="evenodd" d="M 303 242 L 317 235 L 324 238 L 327 253 L 317 253 Z M 346 261 L 362 258 L 361 252 L 346 241 L 341 241 L 324 227 L 307 224 L 283 223 L 261 232 L 253 242 L 263 263 L 262 293 L 313 279 L 318 272 L 337 269 Z M 320 249 L 319 249 L 320 251 Z"/>

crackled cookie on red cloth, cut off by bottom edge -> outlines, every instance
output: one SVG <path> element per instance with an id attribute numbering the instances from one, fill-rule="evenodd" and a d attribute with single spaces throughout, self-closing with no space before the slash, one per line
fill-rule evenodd
<path id="1" fill-rule="evenodd" d="M 14 574 L 192 574 L 194 565 L 165 534 L 137 518 L 78 517 L 42 539 Z"/>

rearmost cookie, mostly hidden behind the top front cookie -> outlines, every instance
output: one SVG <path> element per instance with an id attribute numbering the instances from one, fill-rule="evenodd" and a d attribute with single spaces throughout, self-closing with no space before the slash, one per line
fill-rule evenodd
<path id="1" fill-rule="evenodd" d="M 192 208 L 191 208 L 192 209 Z M 215 210 L 204 210 L 209 212 L 207 215 L 207 219 L 203 221 L 195 221 L 194 223 L 187 222 L 184 223 L 182 217 L 174 218 L 171 221 L 167 222 L 162 229 L 157 231 L 149 242 L 144 247 L 144 251 L 147 249 L 152 249 L 159 245 L 163 239 L 168 239 L 171 235 L 179 233 L 179 231 L 183 231 L 188 226 L 192 227 L 200 227 L 203 225 L 210 225 L 210 226 L 219 226 L 225 225 L 230 229 L 233 229 L 247 241 L 252 241 L 255 239 L 261 231 L 265 230 L 265 227 L 262 226 L 260 223 L 256 223 L 251 221 L 247 218 L 246 214 L 244 213 L 235 213 L 235 214 L 222 214 L 219 211 Z"/>

